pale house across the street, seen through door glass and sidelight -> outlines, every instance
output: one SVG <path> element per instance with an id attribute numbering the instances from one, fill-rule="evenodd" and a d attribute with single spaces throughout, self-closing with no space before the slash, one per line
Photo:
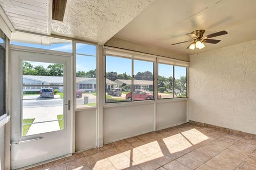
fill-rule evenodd
<path id="1" fill-rule="evenodd" d="M 38 87 L 23 87 L 23 91 L 39 91 L 45 85 L 59 85 L 53 87 L 63 92 L 63 77 L 56 76 L 41 76 L 41 75 L 23 75 L 23 84 L 25 85 L 42 85 Z M 106 79 L 106 86 L 109 88 L 115 87 L 116 83 Z M 95 91 L 96 78 L 76 78 L 76 88 L 81 91 Z"/>

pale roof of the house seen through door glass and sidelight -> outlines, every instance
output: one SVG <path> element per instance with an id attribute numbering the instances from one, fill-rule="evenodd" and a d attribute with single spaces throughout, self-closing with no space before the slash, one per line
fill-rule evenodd
<path id="1" fill-rule="evenodd" d="M 43 75 L 23 75 L 23 78 L 34 80 L 34 81 L 41 81 L 43 83 L 49 83 L 49 84 L 62 84 L 63 83 L 63 77 L 58 76 L 43 76 Z M 96 81 L 96 78 L 76 78 L 77 83 L 85 82 L 94 80 Z M 114 81 L 111 81 L 109 79 L 106 79 L 107 84 L 116 84 Z"/>

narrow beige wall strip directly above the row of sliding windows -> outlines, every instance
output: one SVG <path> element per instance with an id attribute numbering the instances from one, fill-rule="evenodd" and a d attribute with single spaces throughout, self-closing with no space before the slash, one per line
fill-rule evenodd
<path id="1" fill-rule="evenodd" d="M 164 56 L 164 57 L 174 58 L 177 60 L 189 61 L 189 56 L 186 54 L 179 54 L 179 53 L 172 52 L 168 49 L 144 45 L 144 44 L 140 44 L 140 43 L 133 43 L 131 41 L 118 39 L 118 38 L 109 39 L 105 45 L 111 46 L 111 47 L 135 50 L 135 51 L 141 52 L 141 53 L 160 55 L 160 56 Z"/>

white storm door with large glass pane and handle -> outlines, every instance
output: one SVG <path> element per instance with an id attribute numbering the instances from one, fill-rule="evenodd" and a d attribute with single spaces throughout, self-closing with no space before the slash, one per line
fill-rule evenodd
<path id="1" fill-rule="evenodd" d="M 70 154 L 71 54 L 31 48 L 11 57 L 12 169 Z"/>

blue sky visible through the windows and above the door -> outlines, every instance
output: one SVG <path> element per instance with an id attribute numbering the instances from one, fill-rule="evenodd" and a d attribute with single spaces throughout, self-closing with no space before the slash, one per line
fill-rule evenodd
<path id="1" fill-rule="evenodd" d="M 17 43 L 13 42 L 14 45 L 22 45 L 34 48 L 43 48 L 43 49 L 51 49 L 58 50 L 62 52 L 72 53 L 72 43 L 62 43 L 62 44 L 51 44 L 51 46 L 43 46 L 43 45 L 35 45 L 35 44 L 26 44 L 26 43 Z M 85 54 L 85 55 L 77 55 L 76 58 L 76 67 L 77 71 L 90 71 L 95 69 L 96 65 L 96 46 L 89 44 L 76 44 L 76 53 Z M 31 62 L 30 62 L 31 63 Z M 33 64 L 33 62 L 32 62 Z M 38 63 L 34 62 L 33 65 L 38 65 Z M 49 64 L 42 63 L 44 67 L 47 67 Z M 132 62 L 127 58 L 120 57 L 106 57 L 106 71 L 114 71 L 118 74 L 122 74 L 126 72 L 126 74 L 131 75 L 132 73 Z M 158 74 L 164 77 L 170 77 L 172 75 L 172 66 L 166 64 L 159 64 L 158 66 Z M 138 61 L 134 60 L 134 75 L 138 72 L 151 71 L 153 72 L 153 63 L 146 61 Z M 175 78 L 180 78 L 180 76 L 186 76 L 186 67 L 175 66 Z"/>

